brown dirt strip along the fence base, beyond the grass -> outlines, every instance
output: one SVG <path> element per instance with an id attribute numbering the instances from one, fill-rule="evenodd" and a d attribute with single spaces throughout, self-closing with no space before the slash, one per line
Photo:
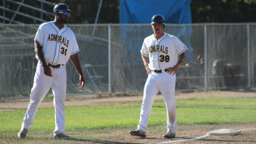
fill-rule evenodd
<path id="1" fill-rule="evenodd" d="M 240 90 L 240 91 L 201 91 L 201 92 L 176 92 L 175 99 L 188 99 L 188 98 L 209 98 L 209 97 L 256 97 L 256 90 Z M 119 96 L 119 97 L 101 97 L 96 98 L 97 95 L 91 98 L 83 98 L 83 95 L 79 97 L 72 97 L 65 102 L 65 106 L 99 106 L 115 104 L 116 102 L 128 102 L 128 101 L 142 101 L 143 96 Z M 163 100 L 162 95 L 156 95 L 155 100 Z M 28 108 L 29 99 L 20 100 L 18 102 L 0 102 L 0 112 L 9 110 L 21 110 Z M 52 108 L 52 100 L 43 100 L 39 105 L 39 108 Z"/>

